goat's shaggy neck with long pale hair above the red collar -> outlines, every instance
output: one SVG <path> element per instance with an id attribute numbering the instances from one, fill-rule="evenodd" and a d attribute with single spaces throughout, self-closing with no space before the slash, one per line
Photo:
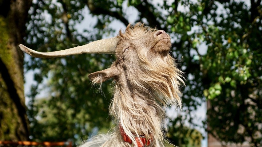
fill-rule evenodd
<path id="1" fill-rule="evenodd" d="M 138 91 L 122 75 L 116 79 L 110 114 L 127 134 L 161 137 L 164 111 L 153 96 L 153 91 Z"/>

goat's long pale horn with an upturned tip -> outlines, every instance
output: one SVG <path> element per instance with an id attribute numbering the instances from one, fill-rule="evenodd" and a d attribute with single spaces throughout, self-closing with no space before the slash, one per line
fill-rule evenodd
<path id="1" fill-rule="evenodd" d="M 24 46 L 23 44 L 19 44 L 19 47 L 22 51 L 36 58 L 54 58 L 54 57 L 77 55 L 77 54 L 83 54 L 83 53 L 112 54 L 116 50 L 117 41 L 118 41 L 117 37 L 113 37 L 109 39 L 101 39 L 98 41 L 90 42 L 89 44 L 85 44 L 82 46 L 77 46 L 74 48 L 68 48 L 65 50 L 54 51 L 54 52 L 37 52 L 35 50 L 32 50 Z"/>

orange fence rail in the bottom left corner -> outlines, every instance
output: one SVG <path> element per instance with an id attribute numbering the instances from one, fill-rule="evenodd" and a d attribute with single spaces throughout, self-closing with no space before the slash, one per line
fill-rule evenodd
<path id="1" fill-rule="evenodd" d="M 1 145 L 44 145 L 44 146 L 63 146 L 66 145 L 66 147 L 72 147 L 72 142 L 67 141 L 67 142 L 35 142 L 35 141 L 0 141 L 0 146 Z"/>

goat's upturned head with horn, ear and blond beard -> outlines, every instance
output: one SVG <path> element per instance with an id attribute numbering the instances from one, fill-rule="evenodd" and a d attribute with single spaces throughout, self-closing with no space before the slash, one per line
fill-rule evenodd
<path id="1" fill-rule="evenodd" d="M 163 30 L 150 29 L 141 23 L 128 25 L 117 37 L 56 52 L 36 52 L 20 44 L 19 47 L 34 57 L 50 58 L 81 53 L 115 53 L 117 60 L 108 69 L 91 73 L 93 83 L 114 78 L 118 83 L 137 91 L 157 94 L 162 104 L 181 106 L 179 86 L 181 71 L 169 55 L 171 41 Z"/>

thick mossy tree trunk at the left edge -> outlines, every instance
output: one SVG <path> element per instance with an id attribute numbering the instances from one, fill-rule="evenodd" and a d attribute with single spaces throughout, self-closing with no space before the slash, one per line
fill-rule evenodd
<path id="1" fill-rule="evenodd" d="M 0 140 L 28 140 L 23 43 L 31 0 L 0 0 Z"/>

